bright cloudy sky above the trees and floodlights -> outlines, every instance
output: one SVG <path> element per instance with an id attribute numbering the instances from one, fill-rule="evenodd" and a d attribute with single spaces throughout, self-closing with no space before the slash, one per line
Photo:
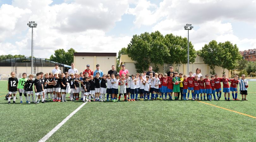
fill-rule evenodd
<path id="1" fill-rule="evenodd" d="M 256 48 L 256 0 L 0 0 L 0 55 L 49 58 L 54 50 L 118 52 L 135 34 L 187 37 L 195 50 L 211 40 Z"/>

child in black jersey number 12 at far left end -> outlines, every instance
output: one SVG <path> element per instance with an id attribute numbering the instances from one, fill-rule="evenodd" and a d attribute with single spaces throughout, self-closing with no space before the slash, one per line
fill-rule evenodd
<path id="1" fill-rule="evenodd" d="M 19 83 L 18 79 L 15 77 L 15 72 L 11 72 L 11 77 L 8 79 L 8 88 L 9 91 L 9 97 L 8 97 L 8 104 L 11 104 L 11 97 L 13 94 L 13 103 L 15 104 L 17 93 L 17 84 Z"/>

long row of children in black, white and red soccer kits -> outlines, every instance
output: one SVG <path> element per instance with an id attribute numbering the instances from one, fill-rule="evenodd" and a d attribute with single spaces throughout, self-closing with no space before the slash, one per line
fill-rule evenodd
<path id="1" fill-rule="evenodd" d="M 209 79 L 208 74 L 205 75 L 205 78 L 203 76 L 198 78 L 197 75 L 192 76 L 192 72 L 189 72 L 189 77 L 182 73 L 178 75 L 177 72 L 174 74 L 170 73 L 170 76 L 155 73 L 153 77 L 153 73 L 150 73 L 148 76 L 146 71 L 144 71 L 143 74 L 131 74 L 131 77 L 130 74 L 122 74 L 120 78 L 119 74 L 103 74 L 100 77 L 98 72 L 95 76 L 89 76 L 88 73 L 68 74 L 68 72 L 65 72 L 62 74 L 44 74 L 40 72 L 36 74 L 34 80 L 33 78 L 34 76 L 30 74 L 27 79 L 27 74 L 23 73 L 22 78 L 18 81 L 15 77 L 15 72 L 11 72 L 11 77 L 8 79 L 8 104 L 10 104 L 12 94 L 14 96 L 13 103 L 15 103 L 17 91 L 20 95 L 20 103 L 23 103 L 23 93 L 28 104 L 31 102 L 30 97 L 32 97 L 32 102 L 35 104 L 40 102 L 40 98 L 41 103 L 45 103 L 49 101 L 49 94 L 50 101 L 53 102 L 66 102 L 67 93 L 70 93 L 70 101 L 77 101 L 80 92 L 83 102 L 91 102 L 91 99 L 93 101 L 105 101 L 105 94 L 107 94 L 107 101 L 109 101 L 110 96 L 110 100 L 113 102 L 119 102 L 122 95 L 124 95 L 125 101 L 166 100 L 167 95 L 169 100 L 173 100 L 173 94 L 174 100 L 179 100 L 180 95 L 181 100 L 189 100 L 190 93 L 192 94 L 192 100 L 203 100 L 204 96 L 204 100 L 212 101 L 212 95 L 214 100 L 220 100 L 221 98 L 221 82 L 223 83 L 226 101 L 230 101 L 230 91 L 232 92 L 233 100 L 239 100 L 237 98 L 238 84 L 240 85 L 242 100 L 247 100 L 248 87 L 245 75 L 242 75 L 242 79 L 239 81 L 237 75 L 234 79 L 227 79 L 225 74 L 222 75 L 222 78 L 215 74 L 210 76 Z M 231 82 L 230 86 L 229 82 Z M 226 96 L 227 93 L 228 98 Z M 140 99 L 138 99 L 138 94 Z"/>

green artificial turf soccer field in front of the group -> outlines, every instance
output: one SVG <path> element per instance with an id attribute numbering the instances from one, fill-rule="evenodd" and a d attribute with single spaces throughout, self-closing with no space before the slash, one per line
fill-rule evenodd
<path id="1" fill-rule="evenodd" d="M 47 141 L 256 141 L 254 87 L 249 82 L 248 101 L 224 101 L 222 93 L 212 102 L 88 102 Z M 19 95 L 7 104 L 7 92 L 0 81 L 0 141 L 39 141 L 83 104 L 20 104 Z"/>

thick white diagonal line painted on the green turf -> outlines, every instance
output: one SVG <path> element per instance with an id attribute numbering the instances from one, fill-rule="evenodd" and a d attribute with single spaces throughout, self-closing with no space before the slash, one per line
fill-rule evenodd
<path id="1" fill-rule="evenodd" d="M 68 121 L 79 109 L 81 109 L 88 101 L 80 105 L 76 110 L 74 110 L 70 115 L 68 115 L 63 121 L 61 121 L 56 127 L 54 127 L 49 133 L 47 133 L 42 139 L 38 142 L 45 142 L 49 139 L 66 121 Z"/>

